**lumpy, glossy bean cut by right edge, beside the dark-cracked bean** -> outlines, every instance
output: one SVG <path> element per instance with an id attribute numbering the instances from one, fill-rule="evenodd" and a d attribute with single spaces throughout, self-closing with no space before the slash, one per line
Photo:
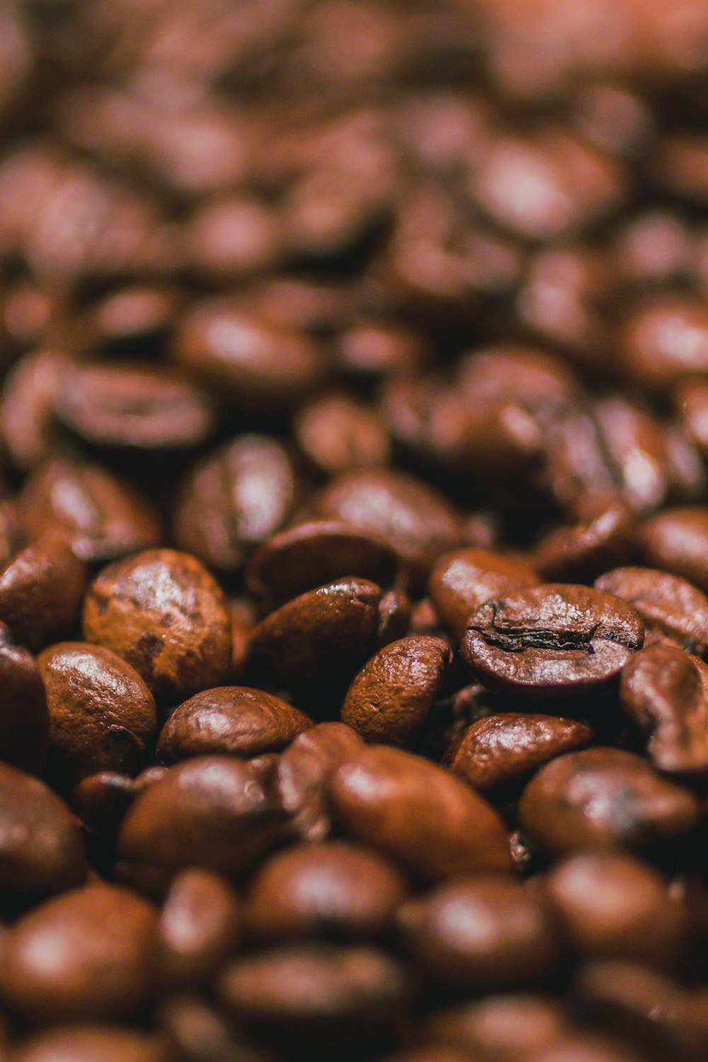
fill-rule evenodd
<path id="1" fill-rule="evenodd" d="M 668 644 L 642 649 L 622 672 L 620 702 L 660 771 L 708 771 L 708 665 L 702 660 Z"/>

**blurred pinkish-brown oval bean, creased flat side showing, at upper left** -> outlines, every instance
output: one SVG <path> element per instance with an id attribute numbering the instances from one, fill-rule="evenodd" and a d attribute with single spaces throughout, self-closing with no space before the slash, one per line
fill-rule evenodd
<path id="1" fill-rule="evenodd" d="M 158 452 L 201 445 L 215 418 L 211 399 L 192 383 L 129 362 L 72 366 L 63 374 L 54 412 L 90 446 Z"/>

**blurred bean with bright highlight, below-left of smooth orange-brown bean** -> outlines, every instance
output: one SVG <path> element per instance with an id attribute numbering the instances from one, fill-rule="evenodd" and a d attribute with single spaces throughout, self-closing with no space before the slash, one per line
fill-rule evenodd
<path id="1" fill-rule="evenodd" d="M 393 925 L 405 881 L 381 856 L 345 841 L 272 856 L 251 883 L 244 912 L 256 941 L 370 940 Z"/>

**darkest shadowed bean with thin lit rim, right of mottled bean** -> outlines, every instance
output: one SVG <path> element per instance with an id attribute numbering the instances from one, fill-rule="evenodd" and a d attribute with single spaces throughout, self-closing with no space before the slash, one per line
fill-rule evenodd
<path id="1" fill-rule="evenodd" d="M 390 586 L 396 573 L 391 546 L 349 524 L 313 520 L 269 538 L 246 565 L 246 587 L 269 609 L 343 576 Z"/>

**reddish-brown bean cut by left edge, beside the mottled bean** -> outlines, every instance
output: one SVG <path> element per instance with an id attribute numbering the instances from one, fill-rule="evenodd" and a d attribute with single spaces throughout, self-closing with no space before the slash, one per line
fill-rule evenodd
<path id="1" fill-rule="evenodd" d="M 86 568 L 66 543 L 40 538 L 0 571 L 0 619 L 36 652 L 79 626 L 86 583 Z"/>

